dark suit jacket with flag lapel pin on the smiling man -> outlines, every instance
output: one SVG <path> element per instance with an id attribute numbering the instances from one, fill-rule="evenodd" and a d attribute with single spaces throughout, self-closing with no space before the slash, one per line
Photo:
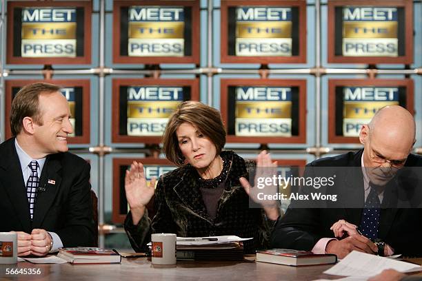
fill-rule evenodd
<path id="1" fill-rule="evenodd" d="M 90 165 L 85 160 L 68 152 L 47 156 L 39 185 L 45 190 L 37 192 L 31 221 L 14 138 L 0 145 L 0 155 L 0 231 L 46 229 L 57 233 L 64 247 L 95 244 Z"/>

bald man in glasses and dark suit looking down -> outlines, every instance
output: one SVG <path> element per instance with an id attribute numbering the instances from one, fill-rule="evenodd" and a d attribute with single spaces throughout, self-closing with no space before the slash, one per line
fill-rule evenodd
<path id="1" fill-rule="evenodd" d="M 301 187 L 300 192 L 323 191 L 338 200 L 293 201 L 274 227 L 271 247 L 334 253 L 339 258 L 354 250 L 420 256 L 421 173 L 414 176 L 418 172 L 410 168 L 422 166 L 422 157 L 410 154 L 415 132 L 407 110 L 383 107 L 361 128 L 363 149 L 308 164 L 304 177 L 334 177 L 334 185 Z"/>

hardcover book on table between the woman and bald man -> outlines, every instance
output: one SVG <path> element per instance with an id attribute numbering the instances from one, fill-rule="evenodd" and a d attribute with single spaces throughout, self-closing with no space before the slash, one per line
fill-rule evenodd
<path id="1" fill-rule="evenodd" d="M 337 256 L 331 253 L 316 254 L 310 251 L 292 249 L 269 249 L 257 251 L 257 262 L 270 262 L 298 267 L 302 265 L 336 263 Z"/>

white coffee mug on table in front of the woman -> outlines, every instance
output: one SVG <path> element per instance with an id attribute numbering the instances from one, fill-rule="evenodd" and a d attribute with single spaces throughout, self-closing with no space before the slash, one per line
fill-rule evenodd
<path id="1" fill-rule="evenodd" d="M 176 264 L 176 234 L 151 235 L 152 264 Z"/>

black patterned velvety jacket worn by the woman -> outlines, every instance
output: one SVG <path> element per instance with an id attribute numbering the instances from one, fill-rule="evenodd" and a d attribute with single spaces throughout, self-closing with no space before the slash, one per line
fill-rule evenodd
<path id="1" fill-rule="evenodd" d="M 212 220 L 197 187 L 197 171 L 191 166 L 174 169 L 159 178 L 155 189 L 156 216 L 150 220 L 147 211 L 138 225 L 133 225 L 132 215 L 125 219 L 125 231 L 135 251 L 147 251 L 151 233 L 176 233 L 181 237 L 236 235 L 253 237 L 243 242 L 245 253 L 268 248 L 274 222 L 267 220 L 263 209 L 249 207 L 249 197 L 239 183 L 248 178 L 253 161 L 245 161 L 234 152 L 221 152 L 231 159 L 225 189 L 217 206 L 217 216 Z"/>

